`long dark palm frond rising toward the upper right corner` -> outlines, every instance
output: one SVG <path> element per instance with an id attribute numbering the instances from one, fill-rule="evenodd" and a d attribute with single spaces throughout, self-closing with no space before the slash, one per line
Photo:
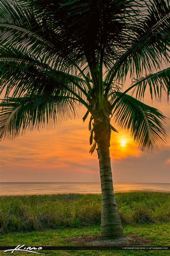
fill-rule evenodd
<path id="1" fill-rule="evenodd" d="M 105 78 L 107 93 L 113 80 L 125 81 L 129 72 L 131 77 L 139 77 L 143 71 L 152 73 L 154 68 L 161 69 L 162 59 L 169 59 L 169 2 L 148 0 L 144 6 L 144 13 L 133 21 L 131 34 L 127 32 L 128 42 L 122 42 L 122 54 Z"/>

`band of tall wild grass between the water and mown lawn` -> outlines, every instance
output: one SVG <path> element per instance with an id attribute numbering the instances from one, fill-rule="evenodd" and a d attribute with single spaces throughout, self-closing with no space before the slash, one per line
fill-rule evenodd
<path id="1" fill-rule="evenodd" d="M 166 222 L 168 193 L 117 193 L 118 211 L 123 224 Z M 31 231 L 99 225 L 101 195 L 53 194 L 0 197 L 1 232 Z"/>

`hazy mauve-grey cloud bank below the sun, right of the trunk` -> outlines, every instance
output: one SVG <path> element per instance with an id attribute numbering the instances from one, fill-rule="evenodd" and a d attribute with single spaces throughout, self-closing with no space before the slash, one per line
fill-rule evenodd
<path id="1" fill-rule="evenodd" d="M 142 153 L 140 158 L 113 160 L 114 179 L 117 182 L 170 182 L 169 165 L 165 165 L 168 157 L 169 148 L 166 148 L 154 154 Z"/>

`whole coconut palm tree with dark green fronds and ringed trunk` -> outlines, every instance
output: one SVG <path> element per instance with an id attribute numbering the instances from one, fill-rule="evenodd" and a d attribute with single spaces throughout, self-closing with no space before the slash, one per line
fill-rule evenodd
<path id="1" fill-rule="evenodd" d="M 121 237 L 109 147 L 112 120 L 142 151 L 159 149 L 165 116 L 141 102 L 169 94 L 166 0 L 1 0 L 1 137 L 53 126 L 86 107 L 97 147 L 101 234 Z M 124 89 L 127 78 L 131 85 Z M 113 135 L 114 136 L 114 135 Z"/>

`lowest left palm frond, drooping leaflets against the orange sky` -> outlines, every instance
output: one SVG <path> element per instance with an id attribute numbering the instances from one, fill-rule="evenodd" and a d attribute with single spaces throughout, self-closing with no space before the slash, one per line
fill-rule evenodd
<path id="1" fill-rule="evenodd" d="M 13 139 L 27 130 L 53 127 L 76 114 L 76 100 L 69 96 L 25 95 L 0 103 L 0 138 Z"/>

